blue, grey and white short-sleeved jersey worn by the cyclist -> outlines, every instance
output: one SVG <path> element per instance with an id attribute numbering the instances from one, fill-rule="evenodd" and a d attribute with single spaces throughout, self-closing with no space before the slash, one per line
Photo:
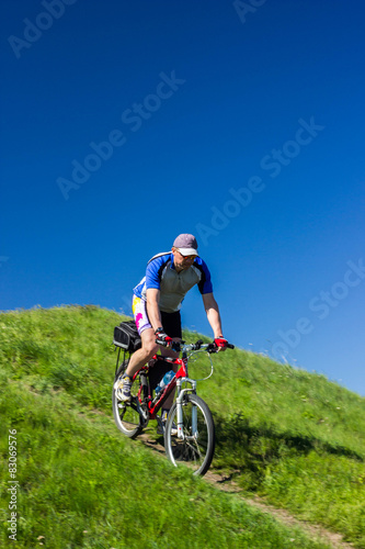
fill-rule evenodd
<path id="1" fill-rule="evenodd" d="M 146 290 L 150 288 L 160 290 L 160 310 L 164 313 L 174 313 L 180 310 L 185 294 L 195 284 L 202 295 L 213 292 L 210 272 L 205 261 L 196 256 L 189 269 L 176 272 L 173 254 L 163 251 L 148 261 L 146 277 L 134 288 L 133 292 L 137 298 L 146 301 Z"/>

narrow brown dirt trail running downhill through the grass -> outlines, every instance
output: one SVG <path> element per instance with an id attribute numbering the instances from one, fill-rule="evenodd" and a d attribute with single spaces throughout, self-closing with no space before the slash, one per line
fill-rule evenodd
<path id="1" fill-rule="evenodd" d="M 153 438 L 151 438 L 148 433 L 142 433 L 141 435 L 139 435 L 137 440 L 140 440 L 145 446 L 151 448 L 160 456 L 166 456 L 164 447 L 157 440 L 153 440 Z M 215 488 L 224 492 L 236 493 L 237 495 L 240 495 L 240 493 L 242 492 L 237 483 L 232 481 L 231 475 L 227 477 L 214 471 L 208 471 L 205 474 L 204 479 L 209 484 L 213 484 Z M 322 526 L 313 525 L 306 520 L 299 520 L 298 518 L 290 515 L 290 513 L 288 513 L 287 511 L 274 507 L 259 496 L 246 497 L 241 495 L 241 497 L 249 505 L 259 508 L 263 513 L 272 515 L 281 523 L 287 526 L 299 527 L 305 530 L 311 538 L 320 539 L 327 544 L 330 544 L 333 549 L 354 549 L 354 546 L 352 544 L 343 541 L 343 536 L 341 534 L 334 534 L 333 531 L 330 531 Z"/>

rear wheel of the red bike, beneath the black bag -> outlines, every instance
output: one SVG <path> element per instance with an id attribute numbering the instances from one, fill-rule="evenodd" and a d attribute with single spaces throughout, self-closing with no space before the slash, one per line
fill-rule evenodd
<path id="1" fill-rule="evenodd" d="M 123 376 L 127 368 L 128 361 L 125 360 L 118 368 L 114 383 L 115 381 Z M 113 383 L 113 393 L 112 393 L 112 402 L 113 402 L 113 416 L 114 416 L 114 422 L 117 426 L 117 428 L 123 433 L 123 435 L 129 437 L 129 438 L 136 438 L 138 435 L 144 429 L 145 422 L 141 415 L 139 414 L 137 410 L 137 393 L 139 390 L 139 378 L 135 380 L 135 382 L 132 385 L 132 401 L 130 403 L 125 403 L 121 402 L 117 400 L 115 396 L 115 390 L 114 390 L 114 383 Z"/>

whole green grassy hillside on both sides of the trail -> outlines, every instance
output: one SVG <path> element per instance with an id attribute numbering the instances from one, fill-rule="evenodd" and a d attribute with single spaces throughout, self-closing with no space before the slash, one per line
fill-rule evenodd
<path id="1" fill-rule="evenodd" d="M 111 341 L 119 322 L 95 306 L 0 314 L 1 541 L 10 542 L 15 429 L 16 547 L 328 547 L 117 432 Z M 214 366 L 198 383 L 215 416 L 213 469 L 364 548 L 365 399 L 242 350 L 215 356 Z M 209 373 L 207 359 L 190 373 Z M 148 428 L 153 436 L 155 422 Z"/>

